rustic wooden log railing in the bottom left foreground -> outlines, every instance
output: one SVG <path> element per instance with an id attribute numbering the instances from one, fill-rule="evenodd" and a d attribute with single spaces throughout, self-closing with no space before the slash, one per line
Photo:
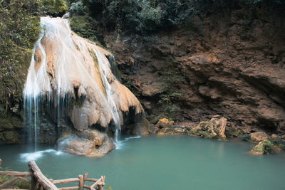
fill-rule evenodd
<path id="1" fill-rule="evenodd" d="M 1 165 L 1 159 L 0 159 L 0 165 Z M 41 190 L 47 189 L 47 190 L 71 190 L 71 189 L 79 189 L 83 190 L 90 189 L 90 190 L 103 190 L 105 185 L 105 176 L 101 176 L 100 179 L 93 179 L 88 178 L 88 173 L 83 175 L 79 175 L 78 178 L 69 178 L 69 179 L 47 179 L 46 176 L 41 173 L 41 170 L 36 165 L 36 162 L 30 161 L 28 162 L 28 167 L 30 168 L 30 172 L 19 172 L 19 171 L 0 171 L 0 175 L 6 175 L 6 176 L 14 176 L 13 178 L 9 179 L 8 181 L 5 181 L 3 184 L 0 184 L 1 190 L 11 190 L 11 189 L 3 189 L 4 187 L 8 186 L 12 182 L 21 179 L 29 184 L 31 184 L 32 190 Z M 31 176 L 31 180 L 27 179 L 27 177 Z M 94 182 L 91 186 L 88 186 L 85 184 L 85 181 L 91 181 Z M 67 184 L 71 182 L 78 182 L 78 186 L 70 186 L 70 187 L 56 187 L 56 184 Z M 28 190 L 28 189 L 21 189 L 21 190 Z"/>

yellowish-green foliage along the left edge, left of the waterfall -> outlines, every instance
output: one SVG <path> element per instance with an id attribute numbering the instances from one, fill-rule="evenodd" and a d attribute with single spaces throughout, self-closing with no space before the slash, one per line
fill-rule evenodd
<path id="1" fill-rule="evenodd" d="M 39 0 L 10 0 L 0 4 L 0 107 L 18 112 L 33 43 L 40 30 Z"/>

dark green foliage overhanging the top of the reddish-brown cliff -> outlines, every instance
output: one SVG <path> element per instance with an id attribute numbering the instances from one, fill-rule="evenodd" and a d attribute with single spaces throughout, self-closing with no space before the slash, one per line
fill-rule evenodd
<path id="1" fill-rule="evenodd" d="M 193 15 L 225 14 L 237 7 L 274 6 L 282 10 L 283 0 L 67 0 L 71 14 L 88 14 L 100 26 L 117 33 L 142 36 L 177 27 L 191 27 Z"/>

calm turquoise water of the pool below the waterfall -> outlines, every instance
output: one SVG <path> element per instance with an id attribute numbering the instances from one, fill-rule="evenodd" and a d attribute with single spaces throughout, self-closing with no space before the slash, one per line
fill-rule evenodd
<path id="1" fill-rule="evenodd" d="M 122 142 L 104 157 L 56 151 L 38 153 L 36 163 L 52 179 L 106 176 L 120 189 L 285 189 L 285 154 L 252 156 L 252 144 L 197 137 L 141 137 Z M 48 149 L 48 147 L 40 147 Z M 2 167 L 26 171 L 24 145 L 0 146 Z M 40 157 L 41 156 L 41 157 Z"/>

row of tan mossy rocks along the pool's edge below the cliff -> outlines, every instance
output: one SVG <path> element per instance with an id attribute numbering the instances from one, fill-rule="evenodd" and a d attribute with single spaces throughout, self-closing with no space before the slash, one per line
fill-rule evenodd
<path id="1" fill-rule="evenodd" d="M 244 134 L 241 131 L 228 131 L 226 126 L 227 119 L 224 117 L 199 122 L 195 127 L 175 125 L 173 121 L 162 118 L 153 127 L 153 134 L 158 136 L 190 135 L 222 141 L 227 141 L 228 138 L 238 137 L 239 139 L 257 144 L 249 151 L 250 154 L 254 155 L 279 153 L 285 150 L 284 137 L 280 137 L 277 134 L 269 135 L 266 134 L 266 132 Z"/>

